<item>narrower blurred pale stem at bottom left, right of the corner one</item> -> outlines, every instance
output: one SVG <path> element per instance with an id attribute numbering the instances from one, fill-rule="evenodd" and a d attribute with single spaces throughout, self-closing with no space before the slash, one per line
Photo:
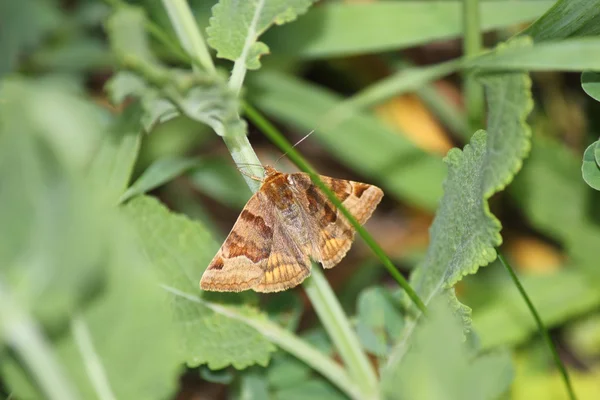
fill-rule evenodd
<path id="1" fill-rule="evenodd" d="M 116 400 L 102 361 L 94 348 L 90 330 L 81 315 L 74 317 L 71 321 L 71 332 L 79 349 L 79 354 L 81 354 L 83 366 L 96 391 L 97 398 L 99 400 Z"/>

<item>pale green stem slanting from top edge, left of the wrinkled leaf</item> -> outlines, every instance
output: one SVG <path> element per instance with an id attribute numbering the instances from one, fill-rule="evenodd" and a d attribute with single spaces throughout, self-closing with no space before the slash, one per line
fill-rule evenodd
<path id="1" fill-rule="evenodd" d="M 163 6 L 184 50 L 193 58 L 197 58 L 208 73 L 214 74 L 215 65 L 187 1 L 163 0 Z"/>

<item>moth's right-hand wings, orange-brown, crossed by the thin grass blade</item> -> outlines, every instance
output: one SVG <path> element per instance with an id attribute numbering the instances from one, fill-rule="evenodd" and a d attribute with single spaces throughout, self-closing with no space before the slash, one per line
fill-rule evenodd
<path id="1" fill-rule="evenodd" d="M 302 206 L 309 219 L 314 221 L 314 239 L 305 251 L 309 252 L 315 261 L 321 262 L 324 268 L 332 268 L 344 258 L 352 246 L 355 229 L 327 196 L 312 183 L 308 174 L 296 173 L 291 176 L 294 185 L 304 193 L 301 198 Z M 360 224 L 364 224 L 371 217 L 383 197 L 383 191 L 377 186 L 322 175 L 320 178 Z"/>

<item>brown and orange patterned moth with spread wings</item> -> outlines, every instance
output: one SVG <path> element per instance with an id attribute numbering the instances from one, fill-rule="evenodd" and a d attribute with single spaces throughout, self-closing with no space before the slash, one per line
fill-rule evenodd
<path id="1" fill-rule="evenodd" d="M 320 176 L 364 224 L 383 191 L 366 183 Z M 310 259 L 332 268 L 346 255 L 355 229 L 306 173 L 265 166 L 265 178 L 202 275 L 203 290 L 278 292 L 310 275 Z"/>

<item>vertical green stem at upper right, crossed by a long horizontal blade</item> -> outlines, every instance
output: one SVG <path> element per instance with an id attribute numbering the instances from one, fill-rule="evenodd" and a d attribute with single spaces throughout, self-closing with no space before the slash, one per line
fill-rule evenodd
<path id="1" fill-rule="evenodd" d="M 481 52 L 481 28 L 479 0 L 463 0 L 463 49 L 467 60 Z M 483 86 L 476 81 L 470 70 L 463 73 L 463 93 L 467 107 L 467 118 L 471 132 L 484 127 Z"/>

